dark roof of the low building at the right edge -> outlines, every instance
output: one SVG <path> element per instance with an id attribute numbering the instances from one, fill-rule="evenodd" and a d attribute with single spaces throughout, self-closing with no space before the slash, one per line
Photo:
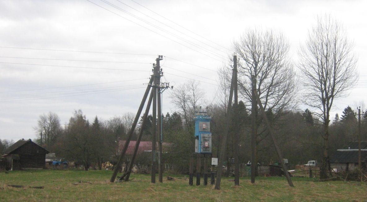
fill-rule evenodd
<path id="1" fill-rule="evenodd" d="M 361 151 L 361 161 L 367 161 L 367 150 Z M 330 163 L 358 163 L 358 149 L 338 149 Z"/>

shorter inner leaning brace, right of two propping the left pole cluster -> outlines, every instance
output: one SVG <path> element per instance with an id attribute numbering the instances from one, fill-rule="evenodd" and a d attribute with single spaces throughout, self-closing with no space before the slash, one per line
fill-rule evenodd
<path id="1" fill-rule="evenodd" d="M 119 180 L 122 180 L 124 176 L 126 176 L 125 181 L 128 181 L 129 180 L 132 167 L 134 166 L 134 163 L 135 163 L 135 158 L 136 158 L 136 156 L 138 154 L 139 144 L 140 144 L 141 138 L 143 136 L 144 125 L 146 123 L 146 119 L 148 118 L 148 113 L 149 113 L 149 110 L 150 110 L 150 105 L 152 105 L 152 100 L 153 100 L 153 92 L 150 91 L 150 96 L 149 96 L 148 104 L 146 105 L 145 113 L 143 115 L 143 120 L 142 120 L 141 127 L 140 127 L 140 130 L 139 130 L 138 140 L 137 140 L 137 143 L 135 144 L 135 147 L 134 147 L 134 154 L 132 155 L 131 161 L 128 164 L 127 171 L 124 173 L 123 176 L 121 176 L 119 178 Z"/>

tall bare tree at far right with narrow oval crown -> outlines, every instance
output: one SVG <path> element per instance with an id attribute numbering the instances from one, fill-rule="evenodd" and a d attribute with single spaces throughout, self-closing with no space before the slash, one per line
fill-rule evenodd
<path id="1" fill-rule="evenodd" d="M 345 29 L 330 15 L 317 17 L 317 24 L 308 32 L 306 43 L 299 51 L 299 70 L 305 87 L 304 103 L 319 110 L 323 124 L 323 162 L 320 177 L 330 172 L 328 140 L 330 109 L 335 98 L 348 95 L 356 84 L 356 57 L 353 42 Z M 331 172 L 330 172 L 331 174 Z"/>

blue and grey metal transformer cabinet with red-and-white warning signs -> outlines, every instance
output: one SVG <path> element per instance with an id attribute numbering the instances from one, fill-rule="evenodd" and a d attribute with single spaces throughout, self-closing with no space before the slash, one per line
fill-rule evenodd
<path id="1" fill-rule="evenodd" d="M 211 154 L 210 119 L 205 112 L 195 115 L 195 153 Z"/>

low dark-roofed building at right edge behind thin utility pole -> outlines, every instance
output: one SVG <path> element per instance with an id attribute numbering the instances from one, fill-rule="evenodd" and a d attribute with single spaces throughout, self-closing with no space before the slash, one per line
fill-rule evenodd
<path id="1" fill-rule="evenodd" d="M 361 163 L 367 166 L 367 141 L 361 141 Z M 334 172 L 354 170 L 358 167 L 358 142 L 351 142 L 344 149 L 338 149 L 330 158 Z"/>

